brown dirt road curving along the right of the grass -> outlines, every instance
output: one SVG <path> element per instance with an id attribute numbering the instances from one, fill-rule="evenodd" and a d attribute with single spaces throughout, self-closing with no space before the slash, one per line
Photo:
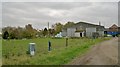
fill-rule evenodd
<path id="1" fill-rule="evenodd" d="M 118 38 L 93 46 L 82 57 L 75 58 L 69 65 L 116 65 L 118 64 Z"/>

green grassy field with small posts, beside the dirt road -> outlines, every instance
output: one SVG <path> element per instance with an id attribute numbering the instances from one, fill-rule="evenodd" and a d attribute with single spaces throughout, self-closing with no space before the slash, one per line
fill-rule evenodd
<path id="1" fill-rule="evenodd" d="M 37 38 L 28 40 L 3 40 L 3 65 L 62 65 L 70 62 L 78 55 L 84 54 L 92 45 L 108 40 L 98 39 L 69 39 L 65 47 L 65 39 Z M 52 51 L 48 52 L 48 41 L 52 43 Z M 26 54 L 30 42 L 36 43 L 35 56 Z M 12 62 L 11 62 L 12 61 Z"/>

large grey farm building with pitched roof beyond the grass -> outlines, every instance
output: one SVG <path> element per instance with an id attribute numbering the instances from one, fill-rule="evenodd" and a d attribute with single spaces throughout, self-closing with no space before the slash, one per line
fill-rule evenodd
<path id="1" fill-rule="evenodd" d="M 90 24 L 86 22 L 78 22 L 75 25 L 62 30 L 63 37 L 91 37 L 93 33 L 99 33 L 104 36 L 104 26 Z"/>

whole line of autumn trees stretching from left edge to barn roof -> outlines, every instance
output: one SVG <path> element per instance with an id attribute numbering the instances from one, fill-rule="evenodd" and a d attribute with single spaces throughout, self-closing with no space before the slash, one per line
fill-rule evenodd
<path id="1" fill-rule="evenodd" d="M 36 37 L 51 37 L 55 36 L 62 29 L 74 25 L 74 22 L 67 22 L 65 25 L 60 22 L 52 25 L 50 29 L 44 28 L 42 30 L 36 30 L 32 27 L 32 24 L 25 25 L 25 27 L 4 27 L 2 28 L 2 38 L 3 39 L 31 39 Z"/>

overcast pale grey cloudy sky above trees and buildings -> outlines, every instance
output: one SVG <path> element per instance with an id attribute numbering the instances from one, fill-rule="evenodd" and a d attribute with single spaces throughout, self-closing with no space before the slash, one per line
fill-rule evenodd
<path id="1" fill-rule="evenodd" d="M 31 0 L 32 1 L 32 0 Z M 0 3 L 1 4 L 1 3 Z M 0 5 L 1 6 L 1 5 Z M 1 10 L 1 9 L 0 9 Z M 0 11 L 1 12 L 1 11 Z M 1 19 L 0 19 L 1 20 Z M 86 21 L 110 27 L 118 25 L 117 2 L 2 2 L 2 27 L 32 24 L 36 29 L 44 29 L 56 22 Z"/>

